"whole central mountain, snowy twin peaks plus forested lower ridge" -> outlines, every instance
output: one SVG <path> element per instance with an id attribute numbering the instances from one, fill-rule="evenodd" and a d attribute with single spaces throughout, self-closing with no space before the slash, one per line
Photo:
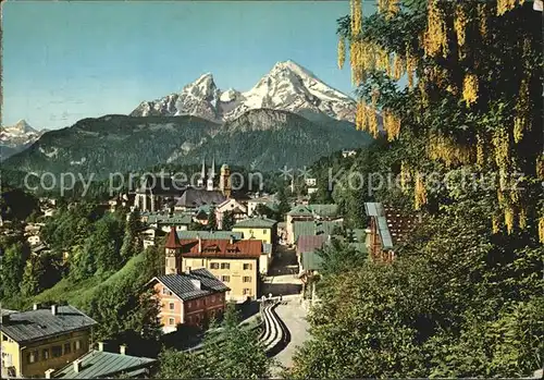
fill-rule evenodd
<path id="1" fill-rule="evenodd" d="M 160 163 L 217 162 L 254 170 L 307 166 L 370 136 L 353 124 L 356 102 L 293 61 L 279 62 L 250 90 L 222 91 L 205 74 L 180 93 L 141 102 L 129 115 L 83 119 L 44 134 L 8 169 L 95 173 Z"/>

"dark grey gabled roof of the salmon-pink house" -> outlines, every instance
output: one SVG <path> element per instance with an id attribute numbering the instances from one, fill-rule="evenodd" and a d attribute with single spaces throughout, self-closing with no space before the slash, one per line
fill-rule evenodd
<path id="1" fill-rule="evenodd" d="M 219 281 L 208 269 L 199 268 L 183 274 L 164 274 L 153 280 L 161 282 L 183 301 L 203 297 L 213 293 L 222 293 L 231 289 Z M 200 289 L 190 280 L 199 280 Z"/>

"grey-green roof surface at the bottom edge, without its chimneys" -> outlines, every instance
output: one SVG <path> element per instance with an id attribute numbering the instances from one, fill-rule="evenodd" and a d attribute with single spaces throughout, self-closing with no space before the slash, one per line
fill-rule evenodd
<path id="1" fill-rule="evenodd" d="M 54 372 L 54 378 L 60 379 L 97 379 L 113 377 L 122 372 L 139 372 L 137 369 L 151 366 L 156 359 L 121 355 L 103 351 L 91 351 L 79 358 L 82 369 L 74 372 L 73 363 Z"/>

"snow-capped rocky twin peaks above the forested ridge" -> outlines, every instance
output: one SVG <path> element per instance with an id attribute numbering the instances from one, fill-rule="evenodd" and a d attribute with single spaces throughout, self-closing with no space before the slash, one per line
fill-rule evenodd
<path id="1" fill-rule="evenodd" d="M 288 60 L 275 63 L 248 91 L 239 93 L 233 88 L 221 91 L 212 74 L 206 73 L 178 94 L 144 101 L 132 115 L 195 114 L 226 122 L 248 110 L 262 108 L 294 113 L 313 112 L 354 122 L 356 103 L 309 70 Z"/>

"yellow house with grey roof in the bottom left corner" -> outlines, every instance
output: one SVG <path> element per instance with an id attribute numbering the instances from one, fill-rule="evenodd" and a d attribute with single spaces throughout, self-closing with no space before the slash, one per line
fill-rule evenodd
<path id="1" fill-rule="evenodd" d="M 73 306 L 2 314 L 3 377 L 44 377 L 89 351 L 97 322 Z"/>

